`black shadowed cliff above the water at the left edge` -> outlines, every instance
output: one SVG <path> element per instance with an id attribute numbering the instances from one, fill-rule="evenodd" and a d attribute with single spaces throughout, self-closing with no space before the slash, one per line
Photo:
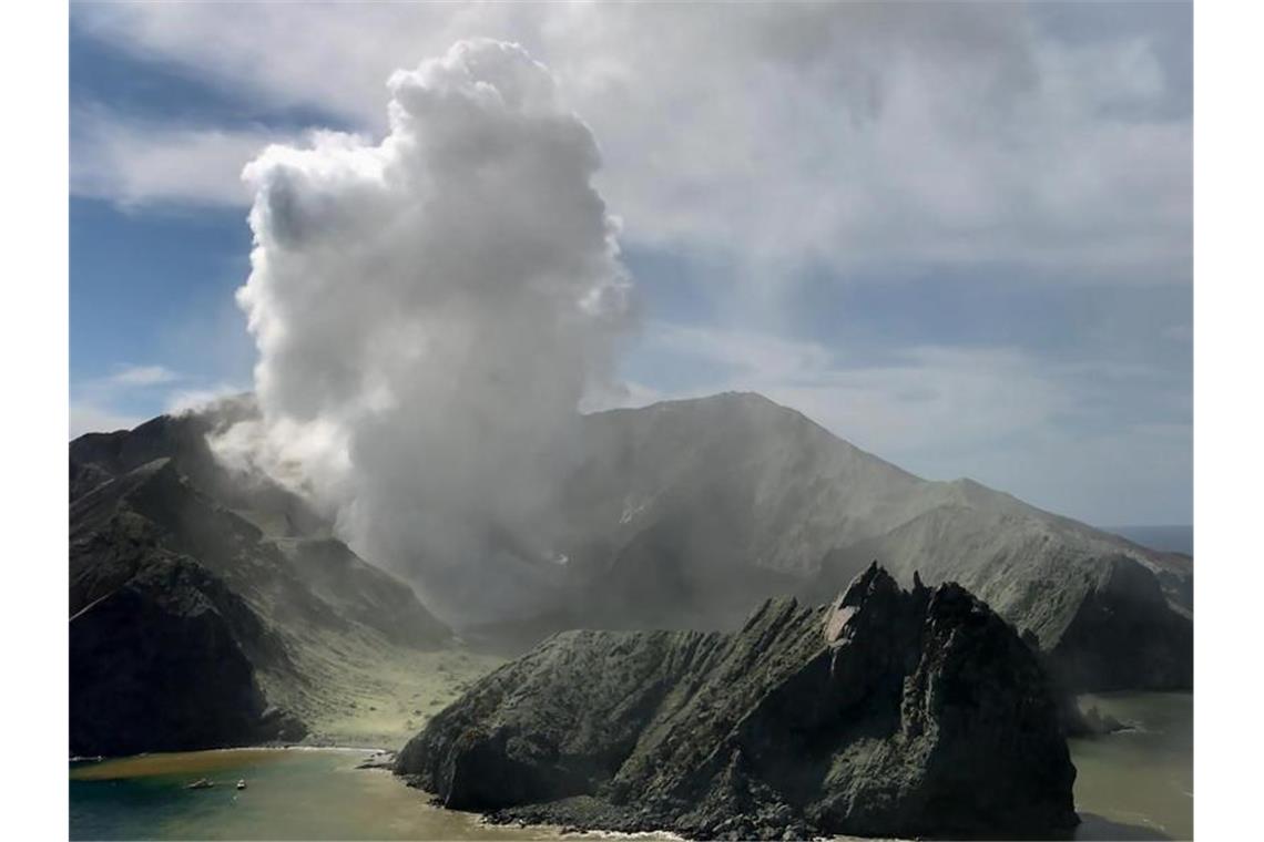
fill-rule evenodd
<path id="1" fill-rule="evenodd" d="M 185 557 L 150 557 L 70 624 L 72 755 L 126 755 L 300 740 L 268 709 L 243 651 L 264 649 L 254 612 Z"/>

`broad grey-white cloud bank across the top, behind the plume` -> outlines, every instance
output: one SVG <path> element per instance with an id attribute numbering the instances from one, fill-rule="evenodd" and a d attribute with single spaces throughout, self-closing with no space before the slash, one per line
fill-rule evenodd
<path id="1" fill-rule="evenodd" d="M 1019 4 L 134 4 L 76 23 L 370 131 L 393 68 L 470 35 L 520 40 L 602 139 L 626 241 L 734 254 L 750 287 L 805 261 L 1188 280 L 1192 131 L 1169 102 L 1184 81 L 1144 33 L 1078 43 Z"/>

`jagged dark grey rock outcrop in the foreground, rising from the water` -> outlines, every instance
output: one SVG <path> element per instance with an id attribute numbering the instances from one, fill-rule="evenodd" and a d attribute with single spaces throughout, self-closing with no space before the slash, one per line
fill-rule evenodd
<path id="1" fill-rule="evenodd" d="M 569 631 L 478 682 L 396 774 L 493 821 L 702 838 L 1074 826 L 1036 656 L 957 584 L 876 566 L 737 632 Z"/>

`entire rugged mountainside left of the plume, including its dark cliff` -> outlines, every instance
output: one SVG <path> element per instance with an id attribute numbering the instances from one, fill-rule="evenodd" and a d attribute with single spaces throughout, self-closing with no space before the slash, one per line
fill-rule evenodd
<path id="1" fill-rule="evenodd" d="M 233 412 L 71 443 L 71 751 L 298 740 L 339 673 L 449 631 L 297 496 L 215 461 Z"/>

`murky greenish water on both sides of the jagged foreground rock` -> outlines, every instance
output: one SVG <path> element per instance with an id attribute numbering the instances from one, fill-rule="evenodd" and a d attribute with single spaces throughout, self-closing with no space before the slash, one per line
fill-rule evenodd
<path id="1" fill-rule="evenodd" d="M 1071 742 L 1077 839 L 1187 839 L 1193 833 L 1193 697 L 1086 698 L 1135 730 Z M 72 762 L 72 839 L 528 839 L 556 828 L 495 827 L 432 807 L 369 751 L 245 749 Z M 212 789 L 190 790 L 197 778 Z M 246 789 L 236 790 L 239 779 Z"/>

